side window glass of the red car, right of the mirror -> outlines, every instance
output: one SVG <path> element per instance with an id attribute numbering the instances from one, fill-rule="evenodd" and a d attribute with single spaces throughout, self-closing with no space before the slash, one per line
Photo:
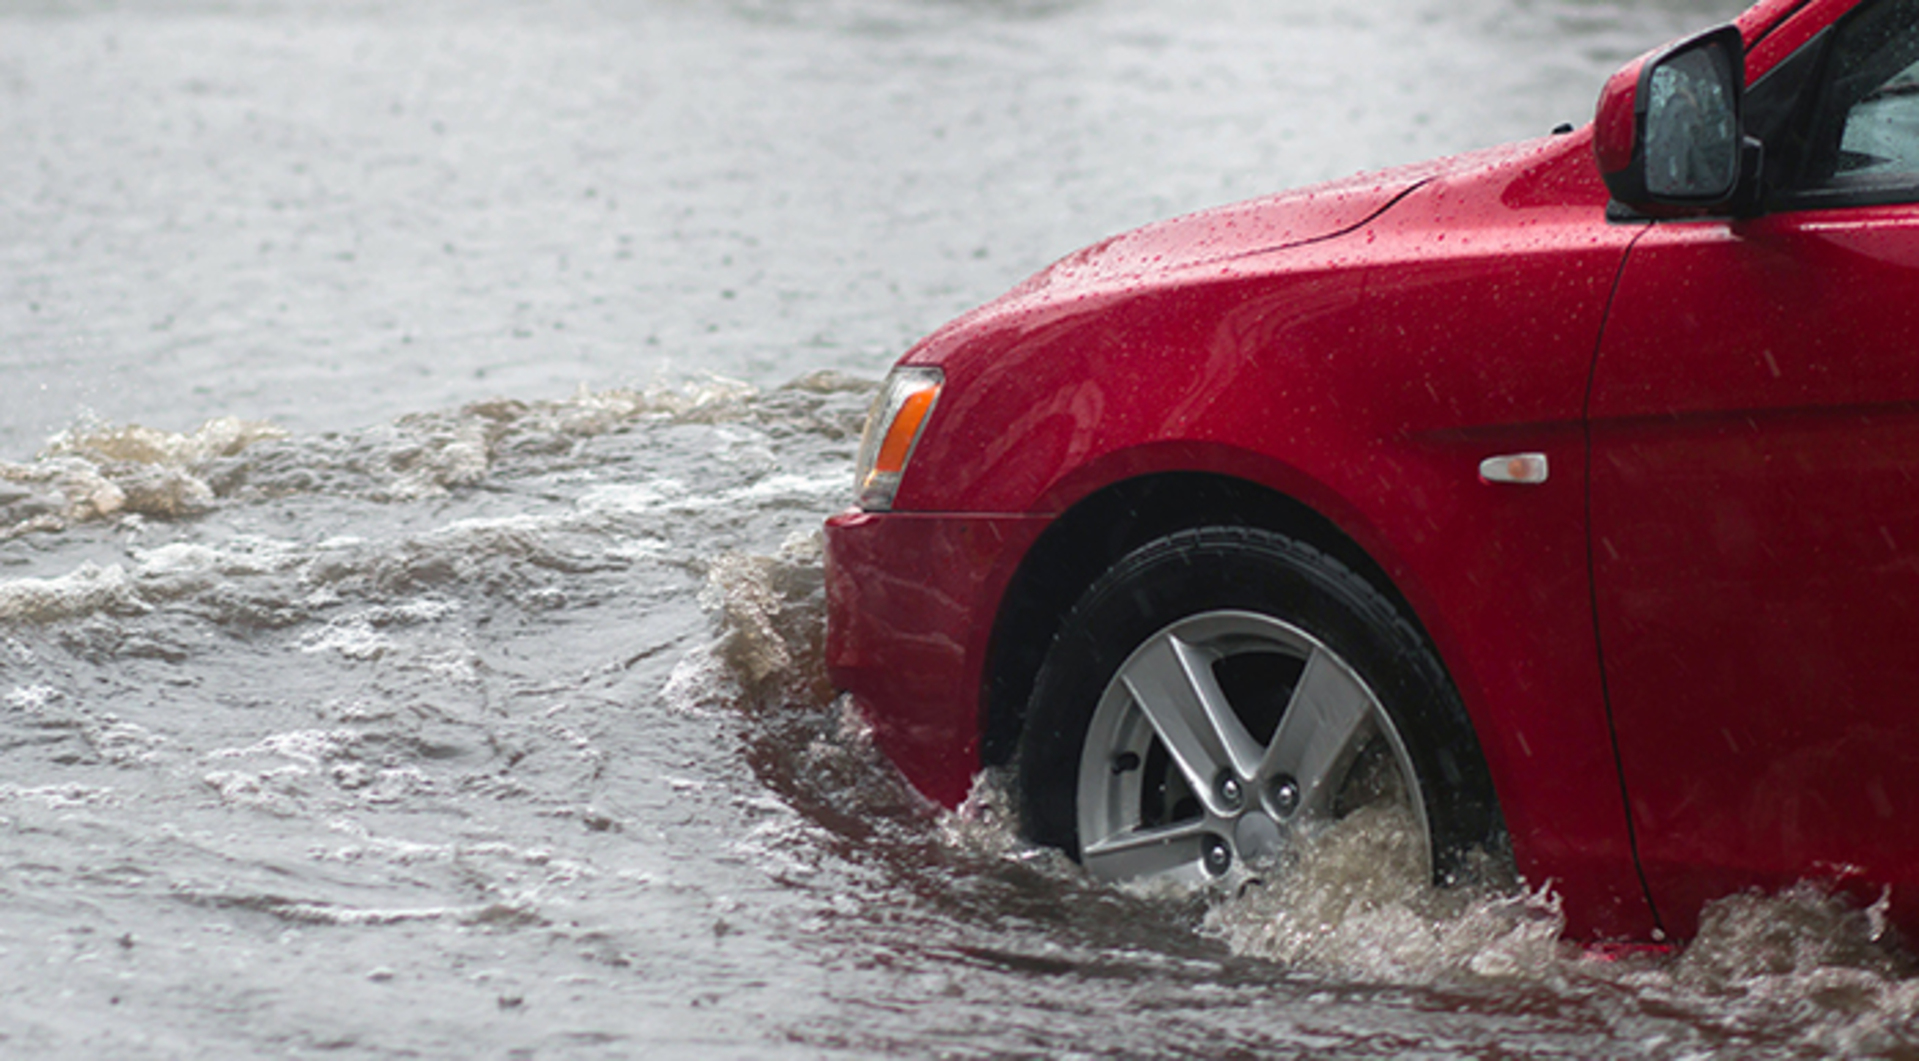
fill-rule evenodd
<path id="1" fill-rule="evenodd" d="M 1919 198 L 1919 0 L 1865 4 L 1836 29 L 1800 188 Z"/>

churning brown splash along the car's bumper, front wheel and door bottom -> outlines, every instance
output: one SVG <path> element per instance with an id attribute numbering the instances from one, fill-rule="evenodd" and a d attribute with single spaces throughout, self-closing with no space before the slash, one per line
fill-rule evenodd
<path id="1" fill-rule="evenodd" d="M 938 865 L 944 886 L 961 896 L 1004 902 L 1007 888 L 1044 888 L 1059 904 L 1121 904 L 1132 917 L 1159 921 L 1155 931 L 1138 927 L 1144 938 L 1192 925 L 1234 955 L 1338 982 L 1545 992 L 1575 1007 L 1612 998 L 1602 1009 L 1620 1009 L 1597 1019 L 1620 1034 L 1641 1034 L 1647 1009 L 1658 1009 L 1654 1023 L 1681 1021 L 1681 1032 L 1647 1032 L 1648 1042 L 1683 1046 L 1677 1053 L 1796 1044 L 1884 1055 L 1919 1038 L 1919 980 L 1892 950 L 1883 909 L 1860 909 L 1813 884 L 1733 896 L 1708 908 L 1700 936 L 1675 957 L 1614 959 L 1564 942 L 1551 888 L 1520 886 L 1493 860 L 1478 883 L 1433 886 L 1418 825 L 1393 802 L 1315 833 L 1268 879 L 1242 871 L 1180 894 L 1100 884 L 1021 837 L 1004 771 L 983 771 L 961 806 L 933 812 L 879 756 L 850 702 L 823 698 L 817 564 L 812 535 L 789 539 L 773 556 L 714 558 L 704 604 L 716 635 L 689 656 L 699 666 L 677 673 L 708 706 L 752 719 L 748 758 L 770 789 L 823 829 L 814 842 L 883 840 L 894 852 L 881 858 L 912 873 Z M 695 672 L 700 683 L 689 679 Z M 785 838 L 783 863 L 794 861 L 793 825 L 775 833 Z M 766 846 L 768 835 L 756 842 Z M 1011 871 L 1017 884 L 1007 883 Z M 1623 1002 L 1610 990 L 1623 990 Z"/>

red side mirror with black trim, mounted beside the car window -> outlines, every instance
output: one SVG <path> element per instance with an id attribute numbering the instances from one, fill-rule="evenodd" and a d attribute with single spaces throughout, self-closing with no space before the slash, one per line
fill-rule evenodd
<path id="1" fill-rule="evenodd" d="M 1746 48 L 1731 25 L 1612 75 L 1593 119 L 1612 198 L 1652 217 L 1733 203 L 1758 169 L 1758 144 L 1741 123 L 1744 90 Z"/>

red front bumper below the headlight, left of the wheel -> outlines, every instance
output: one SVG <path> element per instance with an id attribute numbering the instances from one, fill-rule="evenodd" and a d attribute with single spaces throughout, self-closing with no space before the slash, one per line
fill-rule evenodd
<path id="1" fill-rule="evenodd" d="M 940 806 L 981 769 L 1000 599 L 1046 516 L 841 512 L 827 520 L 827 675 Z"/>

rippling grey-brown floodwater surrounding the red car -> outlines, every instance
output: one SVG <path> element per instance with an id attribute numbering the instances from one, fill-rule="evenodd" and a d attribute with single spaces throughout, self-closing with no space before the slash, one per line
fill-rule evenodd
<path id="1" fill-rule="evenodd" d="M 0 6 L 0 1053 L 1919 1055 L 1391 817 L 1138 894 L 819 664 L 871 389 L 1115 230 L 1579 121 L 1723 2 Z"/>

